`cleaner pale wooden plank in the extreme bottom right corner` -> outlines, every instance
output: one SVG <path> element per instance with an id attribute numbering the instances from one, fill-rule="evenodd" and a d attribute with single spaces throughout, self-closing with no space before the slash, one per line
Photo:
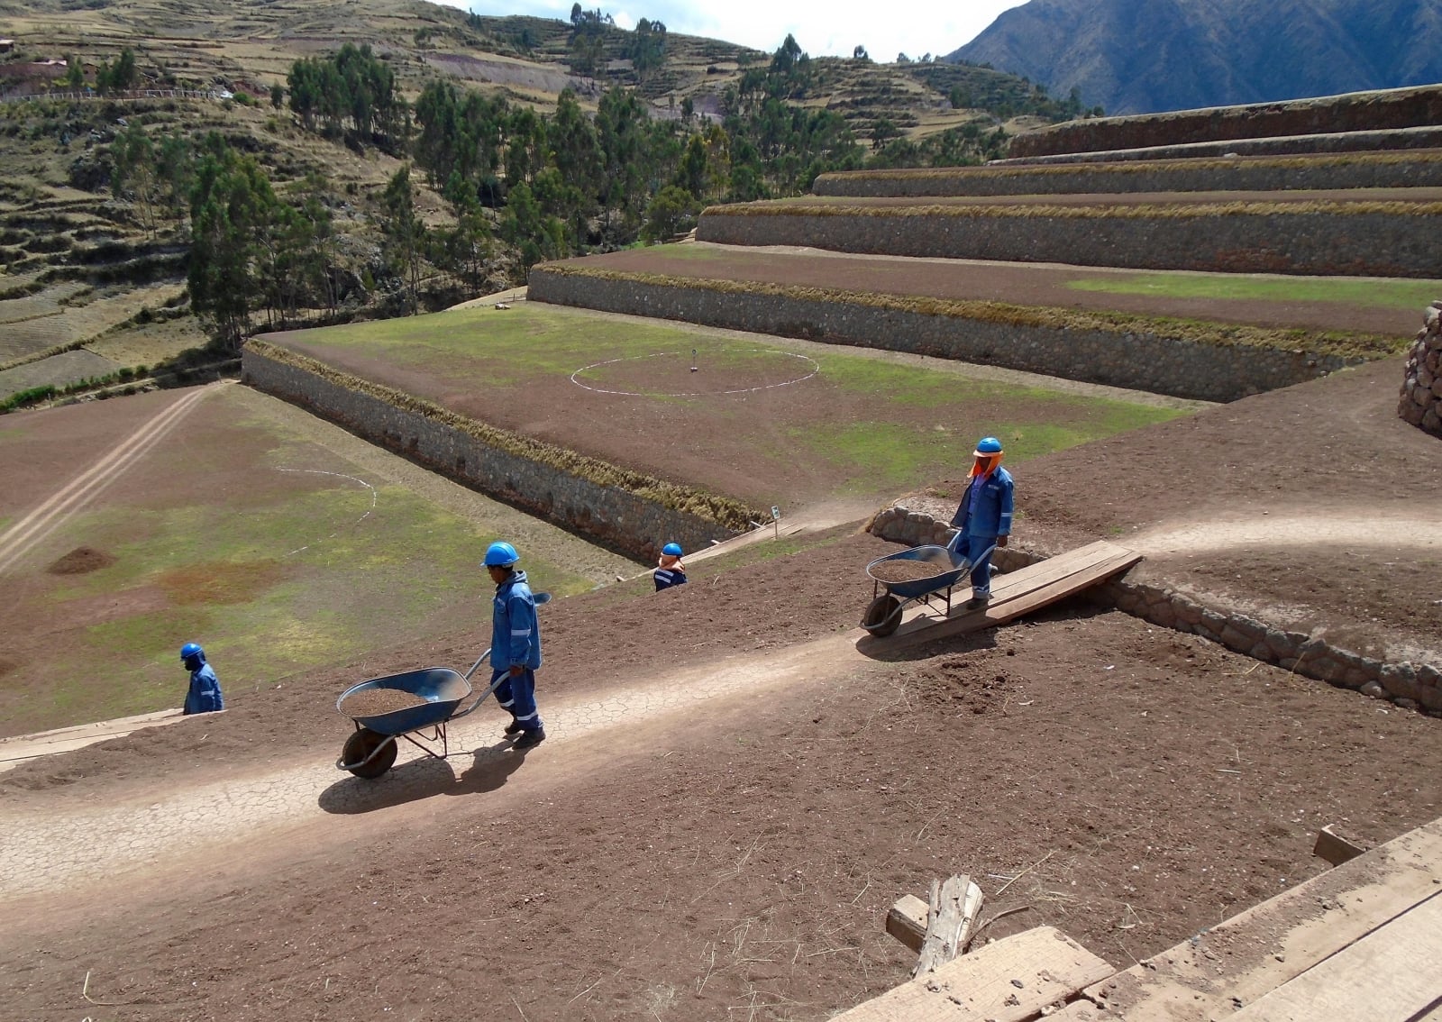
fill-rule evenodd
<path id="1" fill-rule="evenodd" d="M 1407 1022 L 1442 997 L 1442 895 L 1432 895 L 1296 979 L 1236 1022 Z"/>

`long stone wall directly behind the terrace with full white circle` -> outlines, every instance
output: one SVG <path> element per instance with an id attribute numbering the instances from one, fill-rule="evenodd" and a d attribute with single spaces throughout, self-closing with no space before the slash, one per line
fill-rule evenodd
<path id="1" fill-rule="evenodd" d="M 611 313 L 682 320 L 783 337 L 932 355 L 1089 383 L 1236 401 L 1325 376 L 1360 359 L 1246 345 L 1204 345 L 1164 333 L 1014 326 L 844 300 L 806 300 L 531 270 L 529 297 Z"/>

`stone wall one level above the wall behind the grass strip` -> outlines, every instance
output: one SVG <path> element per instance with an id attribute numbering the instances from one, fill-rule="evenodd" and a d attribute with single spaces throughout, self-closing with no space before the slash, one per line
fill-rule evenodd
<path id="1" fill-rule="evenodd" d="M 822 174 L 815 195 L 942 197 L 953 195 L 1097 195 L 1122 192 L 1286 192 L 1442 186 L 1442 153 L 846 170 Z"/>

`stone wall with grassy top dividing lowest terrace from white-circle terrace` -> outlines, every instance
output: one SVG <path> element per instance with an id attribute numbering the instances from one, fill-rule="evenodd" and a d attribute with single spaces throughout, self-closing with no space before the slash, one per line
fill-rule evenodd
<path id="1" fill-rule="evenodd" d="M 252 350 L 242 353 L 241 379 L 441 476 L 642 561 L 659 555 L 665 542 L 689 551 L 738 535 L 701 516 L 497 450 L 456 427 Z"/>

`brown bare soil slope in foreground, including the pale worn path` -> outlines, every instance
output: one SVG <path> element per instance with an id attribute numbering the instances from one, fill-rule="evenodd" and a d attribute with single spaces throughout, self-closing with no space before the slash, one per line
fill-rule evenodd
<path id="1" fill-rule="evenodd" d="M 1399 381 L 1025 461 L 1018 542 L 1131 542 L 1141 577 L 1426 647 L 1442 460 Z M 448 765 L 329 767 L 346 685 L 469 663 L 477 627 L 17 768 L 6 1010 L 823 1019 L 907 976 L 884 912 L 933 876 L 981 878 L 983 940 L 1050 923 L 1125 967 L 1318 872 L 1325 823 L 1376 843 L 1439 814 L 1436 719 L 1118 613 L 867 659 L 862 568 L 891 549 L 841 529 L 552 603 L 523 755 L 486 706 Z"/>

